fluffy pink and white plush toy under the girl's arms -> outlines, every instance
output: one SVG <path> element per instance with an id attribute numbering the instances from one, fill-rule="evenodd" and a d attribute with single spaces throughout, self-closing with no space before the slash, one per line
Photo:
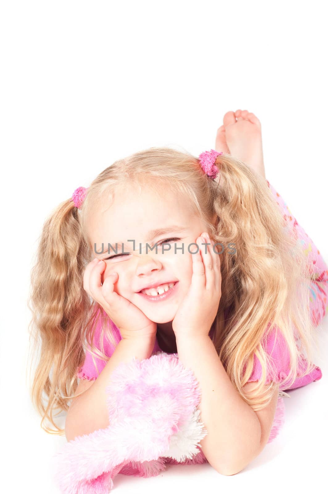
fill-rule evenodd
<path id="1" fill-rule="evenodd" d="M 165 463 L 204 463 L 201 392 L 178 355 L 157 352 L 119 365 L 106 388 L 109 423 L 78 436 L 54 455 L 53 480 L 65 494 L 107 494 L 118 474 L 153 477 Z M 277 412 L 268 442 L 284 421 Z"/>

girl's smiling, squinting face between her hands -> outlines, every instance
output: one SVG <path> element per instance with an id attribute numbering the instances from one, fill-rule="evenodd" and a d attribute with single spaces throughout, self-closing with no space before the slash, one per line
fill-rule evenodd
<path id="1" fill-rule="evenodd" d="M 206 231 L 185 197 L 171 191 L 161 192 L 143 188 L 140 193 L 129 186 L 124 190 L 124 198 L 114 196 L 109 207 L 105 205 L 102 211 L 89 217 L 87 228 L 93 255 L 106 262 L 102 283 L 116 271 L 119 279 L 114 291 L 155 323 L 174 319 L 191 284 L 193 261 L 188 246 Z M 162 232 L 156 232 L 158 229 Z M 167 244 L 162 247 L 164 242 L 169 243 L 170 250 L 165 250 L 169 248 Z M 113 247 L 109 252 L 108 243 Z M 102 244 L 104 252 L 97 254 L 95 250 L 101 252 Z M 157 253 L 156 248 L 151 250 L 156 244 Z M 175 286 L 163 300 L 153 301 L 140 293 L 143 288 L 164 283 Z"/>

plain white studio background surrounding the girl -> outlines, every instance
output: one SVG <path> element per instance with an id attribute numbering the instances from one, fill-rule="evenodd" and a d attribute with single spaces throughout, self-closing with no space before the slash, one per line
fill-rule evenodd
<path id="1" fill-rule="evenodd" d="M 41 429 L 26 378 L 32 257 L 51 210 L 113 161 L 157 145 L 198 156 L 214 147 L 227 111 L 253 112 L 267 179 L 328 260 L 323 8 L 286 0 L 1 3 L 5 492 L 58 492 L 50 458 L 66 439 Z M 327 319 L 321 336 L 322 379 L 290 392 L 283 430 L 245 470 L 225 477 L 208 464 L 171 466 L 149 479 L 118 475 L 115 492 L 270 493 L 287 482 L 323 492 Z"/>

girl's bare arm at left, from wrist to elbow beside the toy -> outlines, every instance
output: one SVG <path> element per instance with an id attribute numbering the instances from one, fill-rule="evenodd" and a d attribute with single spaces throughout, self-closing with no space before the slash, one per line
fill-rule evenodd
<path id="1" fill-rule="evenodd" d="M 155 339 L 156 335 L 151 338 L 123 338 L 97 379 L 80 382 L 77 392 L 86 391 L 81 396 L 73 398 L 68 410 L 65 423 L 67 441 L 109 426 L 105 390 L 112 372 L 121 363 L 130 362 L 133 357 L 139 360 L 148 359 L 153 352 Z"/>

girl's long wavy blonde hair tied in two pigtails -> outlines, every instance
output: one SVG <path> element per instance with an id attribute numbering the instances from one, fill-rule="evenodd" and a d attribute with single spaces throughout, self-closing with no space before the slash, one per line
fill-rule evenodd
<path id="1" fill-rule="evenodd" d="M 248 405 L 254 411 L 261 410 L 274 392 L 274 382 L 265 384 L 271 360 L 262 338 L 268 325 L 277 325 L 287 343 L 290 372 L 281 383 L 286 384 L 284 389 L 299 377 L 301 352 L 307 358 L 302 375 L 313 369 L 315 326 L 310 317 L 307 283 L 311 274 L 302 247 L 288 225 L 283 225 L 282 211 L 264 178 L 230 155 L 218 156 L 216 165 L 220 173 L 211 180 L 199 160 L 187 152 L 165 147 L 140 151 L 103 170 L 88 188 L 81 209 L 70 198 L 45 221 L 31 272 L 29 302 L 33 317 L 29 328 L 34 349 L 41 347 L 31 398 L 46 432 L 64 434 L 52 412 L 69 408 L 67 402 L 78 385 L 76 373 L 84 360 L 85 340 L 93 357 L 105 362 L 109 358 L 104 353 L 104 335 L 114 347 L 117 344 L 108 316 L 83 289 L 83 272 L 92 254 L 86 235 L 88 216 L 103 198 L 108 204 L 109 195 L 123 191 L 126 181 L 140 190 L 146 183 L 154 190 L 169 187 L 184 194 L 210 237 L 224 247 L 235 246 L 235 254 L 226 248 L 220 254 L 222 295 L 211 333 L 229 378 Z M 96 314 L 101 314 L 106 323 L 100 351 L 93 342 Z M 301 345 L 296 344 L 297 339 Z M 258 386 L 245 393 L 243 386 L 250 377 L 254 355 L 262 366 L 262 376 Z M 45 418 L 55 430 L 43 426 Z"/>

